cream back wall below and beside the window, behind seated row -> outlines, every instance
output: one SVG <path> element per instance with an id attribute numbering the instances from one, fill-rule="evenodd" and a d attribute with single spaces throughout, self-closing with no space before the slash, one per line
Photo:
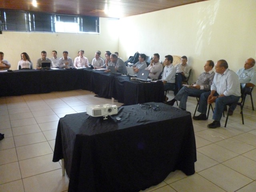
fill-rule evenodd
<path id="1" fill-rule="evenodd" d="M 118 25 L 119 20 L 100 18 L 100 34 L 76 33 L 38 33 L 38 32 L 2 32 L 0 35 L 0 51 L 4 52 L 4 59 L 11 63 L 11 69 L 16 70 L 20 54 L 28 53 L 33 62 L 41 57 L 41 51 L 47 52 L 47 57 L 52 57 L 52 50 L 58 52 L 58 57 L 63 51 L 68 51 L 68 56 L 73 60 L 80 49 L 85 51 L 84 56 L 92 62 L 95 52 L 100 50 L 105 58 L 106 50 L 118 51 L 118 31 L 113 32 L 108 26 Z"/>

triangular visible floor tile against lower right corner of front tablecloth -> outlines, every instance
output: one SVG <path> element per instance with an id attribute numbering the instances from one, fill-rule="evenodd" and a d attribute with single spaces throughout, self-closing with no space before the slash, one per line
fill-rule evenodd
<path id="1" fill-rule="evenodd" d="M 196 152 L 196 158 L 197 158 L 197 161 L 195 162 L 196 172 L 200 172 L 202 170 L 205 170 L 207 168 L 210 168 L 214 165 L 219 164 L 219 162 L 217 162 L 199 152 Z"/>

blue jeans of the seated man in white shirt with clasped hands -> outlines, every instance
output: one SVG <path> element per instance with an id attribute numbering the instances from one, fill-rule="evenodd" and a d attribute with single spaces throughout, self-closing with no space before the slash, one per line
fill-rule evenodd
<path id="1" fill-rule="evenodd" d="M 210 94 L 211 94 L 210 92 L 204 92 L 201 94 L 200 102 L 199 102 L 198 109 L 197 109 L 198 112 L 200 112 L 202 114 L 206 114 L 207 100 L 208 100 L 208 97 Z M 215 92 L 214 96 L 218 96 L 218 93 Z M 238 102 L 239 98 L 240 98 L 240 96 L 234 96 L 234 95 L 216 98 L 215 109 L 214 109 L 212 119 L 216 120 L 216 121 L 220 121 L 221 117 L 222 117 L 222 112 L 224 110 L 224 106 L 229 103 Z"/>

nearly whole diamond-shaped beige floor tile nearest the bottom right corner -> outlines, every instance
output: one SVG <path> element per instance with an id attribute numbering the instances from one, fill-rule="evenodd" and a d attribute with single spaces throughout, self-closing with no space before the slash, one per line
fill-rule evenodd
<path id="1" fill-rule="evenodd" d="M 217 186 L 233 192 L 242 186 L 249 184 L 252 180 L 222 164 L 218 164 L 206 170 L 199 172 L 201 176 L 213 182 Z"/>

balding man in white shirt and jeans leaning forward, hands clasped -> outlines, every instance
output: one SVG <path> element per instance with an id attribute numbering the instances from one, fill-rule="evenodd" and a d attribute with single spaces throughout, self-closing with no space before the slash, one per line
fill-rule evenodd
<path id="1" fill-rule="evenodd" d="M 204 92 L 200 96 L 198 105 L 199 116 L 194 116 L 194 120 L 207 120 L 207 104 L 215 102 L 215 109 L 212 116 L 214 120 L 208 124 L 208 128 L 220 127 L 220 119 L 224 106 L 228 103 L 238 102 L 241 92 L 238 75 L 228 68 L 226 60 L 218 60 L 215 66 L 216 74 L 211 86 L 211 92 Z"/>

